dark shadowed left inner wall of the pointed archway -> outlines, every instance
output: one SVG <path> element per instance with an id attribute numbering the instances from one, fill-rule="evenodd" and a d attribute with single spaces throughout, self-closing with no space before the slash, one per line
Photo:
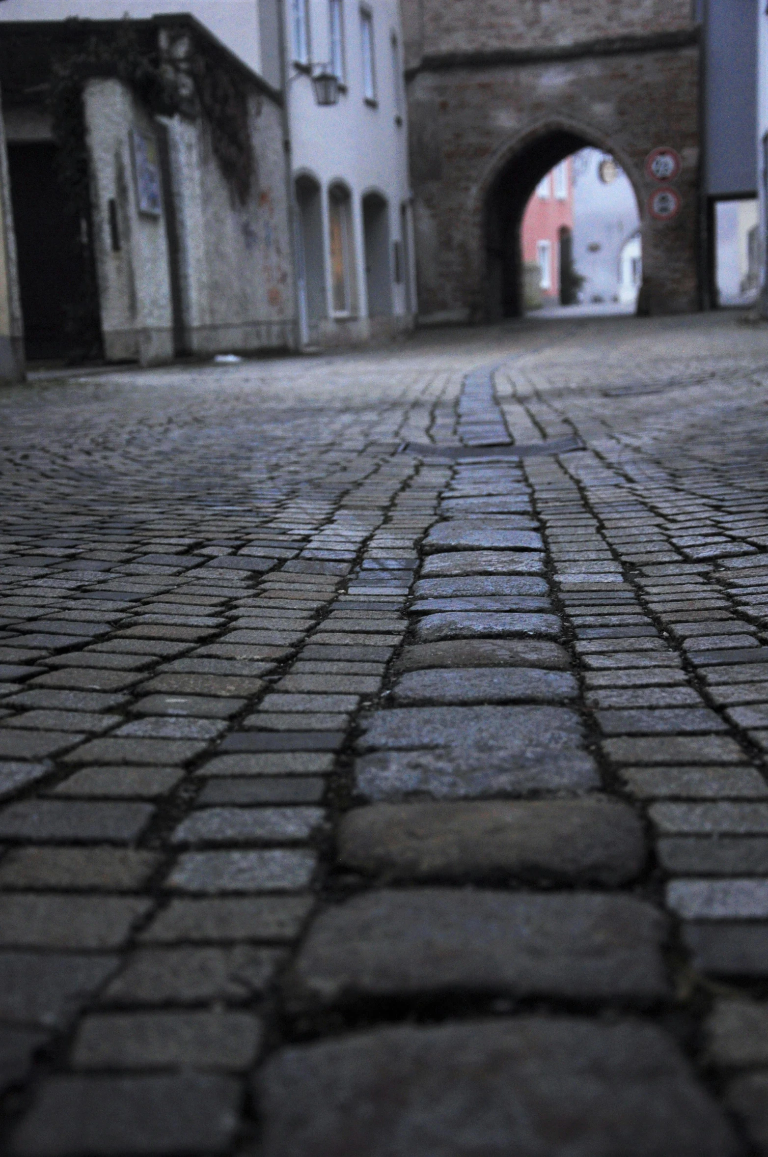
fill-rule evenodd
<path id="1" fill-rule="evenodd" d="M 542 177 L 590 142 L 557 130 L 520 149 L 496 177 L 486 201 L 486 315 L 520 317 L 523 256 L 520 222 L 531 193 Z"/>

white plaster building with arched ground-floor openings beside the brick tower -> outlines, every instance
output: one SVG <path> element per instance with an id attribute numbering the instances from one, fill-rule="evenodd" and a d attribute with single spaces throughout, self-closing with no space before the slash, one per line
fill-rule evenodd
<path id="1" fill-rule="evenodd" d="M 398 0 L 285 2 L 302 341 L 396 333 L 415 314 Z M 316 102 L 323 68 L 332 105 Z"/>

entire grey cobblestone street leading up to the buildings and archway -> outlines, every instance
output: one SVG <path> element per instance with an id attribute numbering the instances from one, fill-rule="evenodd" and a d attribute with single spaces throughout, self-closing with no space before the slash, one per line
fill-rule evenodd
<path id="1" fill-rule="evenodd" d="M 768 329 L 0 393 L 13 1157 L 768 1155 Z"/>

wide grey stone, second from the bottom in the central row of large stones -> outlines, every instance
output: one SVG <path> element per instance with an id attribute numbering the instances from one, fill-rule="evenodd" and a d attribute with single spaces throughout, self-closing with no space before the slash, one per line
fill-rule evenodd
<path id="1" fill-rule="evenodd" d="M 633 897 L 471 889 L 375 891 L 326 908 L 286 979 L 293 1009 L 472 993 L 666 995 L 665 922 Z"/>

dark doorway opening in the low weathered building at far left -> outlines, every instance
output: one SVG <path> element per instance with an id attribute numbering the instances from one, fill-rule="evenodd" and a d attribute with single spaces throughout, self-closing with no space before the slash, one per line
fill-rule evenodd
<path id="1" fill-rule="evenodd" d="M 93 358 L 99 349 L 97 302 L 84 219 L 67 213 L 56 145 L 8 145 L 10 194 L 27 358 Z"/>

